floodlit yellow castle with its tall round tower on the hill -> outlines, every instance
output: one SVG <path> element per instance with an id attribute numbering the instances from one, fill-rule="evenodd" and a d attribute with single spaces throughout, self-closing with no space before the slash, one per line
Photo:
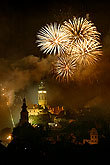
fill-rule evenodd
<path id="1" fill-rule="evenodd" d="M 32 125 L 46 124 L 53 120 L 52 116 L 58 115 L 61 111 L 64 111 L 63 106 L 51 107 L 47 104 L 47 90 L 45 83 L 40 82 L 38 86 L 38 104 L 28 105 L 28 121 Z"/>

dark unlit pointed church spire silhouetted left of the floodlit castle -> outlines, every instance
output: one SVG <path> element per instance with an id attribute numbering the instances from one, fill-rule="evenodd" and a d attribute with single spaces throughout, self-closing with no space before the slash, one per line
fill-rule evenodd
<path id="1" fill-rule="evenodd" d="M 21 118 L 20 118 L 20 124 L 28 123 L 28 111 L 27 111 L 27 106 L 26 106 L 26 99 L 23 99 L 23 105 L 22 105 L 22 111 L 20 113 Z"/>

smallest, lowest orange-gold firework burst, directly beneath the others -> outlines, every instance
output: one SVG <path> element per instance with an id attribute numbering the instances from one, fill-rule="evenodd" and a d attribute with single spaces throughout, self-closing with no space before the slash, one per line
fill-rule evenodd
<path id="1" fill-rule="evenodd" d="M 54 61 L 54 73 L 56 75 L 56 79 L 69 81 L 73 79 L 73 74 L 76 69 L 75 60 L 72 56 L 63 54 L 61 56 L 57 56 Z"/>

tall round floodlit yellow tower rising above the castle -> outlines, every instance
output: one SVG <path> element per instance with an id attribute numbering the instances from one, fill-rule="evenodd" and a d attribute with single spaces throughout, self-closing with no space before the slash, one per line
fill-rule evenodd
<path id="1" fill-rule="evenodd" d="M 47 105 L 47 91 L 45 89 L 44 82 L 41 81 L 38 88 L 38 104 L 43 108 Z"/>

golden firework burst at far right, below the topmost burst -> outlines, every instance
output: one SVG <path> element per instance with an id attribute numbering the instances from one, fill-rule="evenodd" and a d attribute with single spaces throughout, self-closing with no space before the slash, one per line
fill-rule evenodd
<path id="1" fill-rule="evenodd" d="M 102 46 L 96 40 L 84 40 L 73 46 L 72 55 L 79 65 L 91 65 L 102 56 Z"/>

